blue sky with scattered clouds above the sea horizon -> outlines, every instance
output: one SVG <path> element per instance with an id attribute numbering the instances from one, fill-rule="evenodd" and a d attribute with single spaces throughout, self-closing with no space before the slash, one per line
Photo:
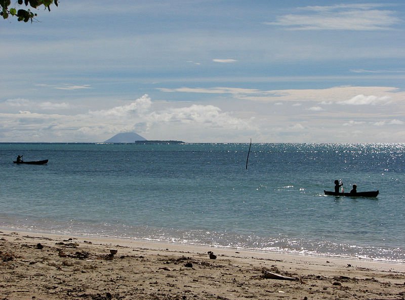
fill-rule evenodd
<path id="1" fill-rule="evenodd" d="M 405 2 L 59 0 L 0 19 L 0 142 L 405 142 Z"/>

